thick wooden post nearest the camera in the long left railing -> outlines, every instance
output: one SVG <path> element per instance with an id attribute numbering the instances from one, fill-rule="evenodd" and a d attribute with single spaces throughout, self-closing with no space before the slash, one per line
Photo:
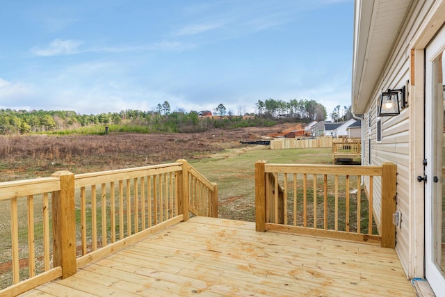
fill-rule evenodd
<path id="1" fill-rule="evenodd" d="M 51 177 L 60 179 L 60 191 L 51 194 L 54 267 L 61 266 L 62 278 L 68 278 L 77 272 L 74 174 L 58 171 Z"/>

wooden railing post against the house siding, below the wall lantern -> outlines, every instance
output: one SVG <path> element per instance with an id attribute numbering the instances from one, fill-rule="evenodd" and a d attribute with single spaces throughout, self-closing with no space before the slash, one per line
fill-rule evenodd
<path id="1" fill-rule="evenodd" d="M 392 214 L 396 211 L 397 166 L 386 162 L 382 166 L 382 248 L 396 247 L 396 226 Z"/>

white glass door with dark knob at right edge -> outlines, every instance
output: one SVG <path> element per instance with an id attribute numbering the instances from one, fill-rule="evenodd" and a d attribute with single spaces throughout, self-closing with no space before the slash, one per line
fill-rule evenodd
<path id="1" fill-rule="evenodd" d="M 437 296 L 445 292 L 444 51 L 442 29 L 426 49 L 425 101 L 425 273 Z"/>

